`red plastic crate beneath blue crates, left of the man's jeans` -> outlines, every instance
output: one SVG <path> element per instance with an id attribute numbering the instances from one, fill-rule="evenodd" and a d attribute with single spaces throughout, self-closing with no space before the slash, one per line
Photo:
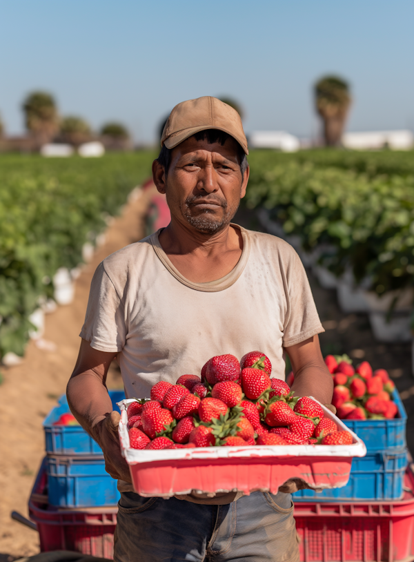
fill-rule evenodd
<path id="1" fill-rule="evenodd" d="M 43 461 L 29 501 L 30 519 L 37 524 L 41 552 L 74 550 L 113 559 L 117 506 L 57 510 L 47 503 Z M 42 498 L 43 496 L 43 498 Z"/>

